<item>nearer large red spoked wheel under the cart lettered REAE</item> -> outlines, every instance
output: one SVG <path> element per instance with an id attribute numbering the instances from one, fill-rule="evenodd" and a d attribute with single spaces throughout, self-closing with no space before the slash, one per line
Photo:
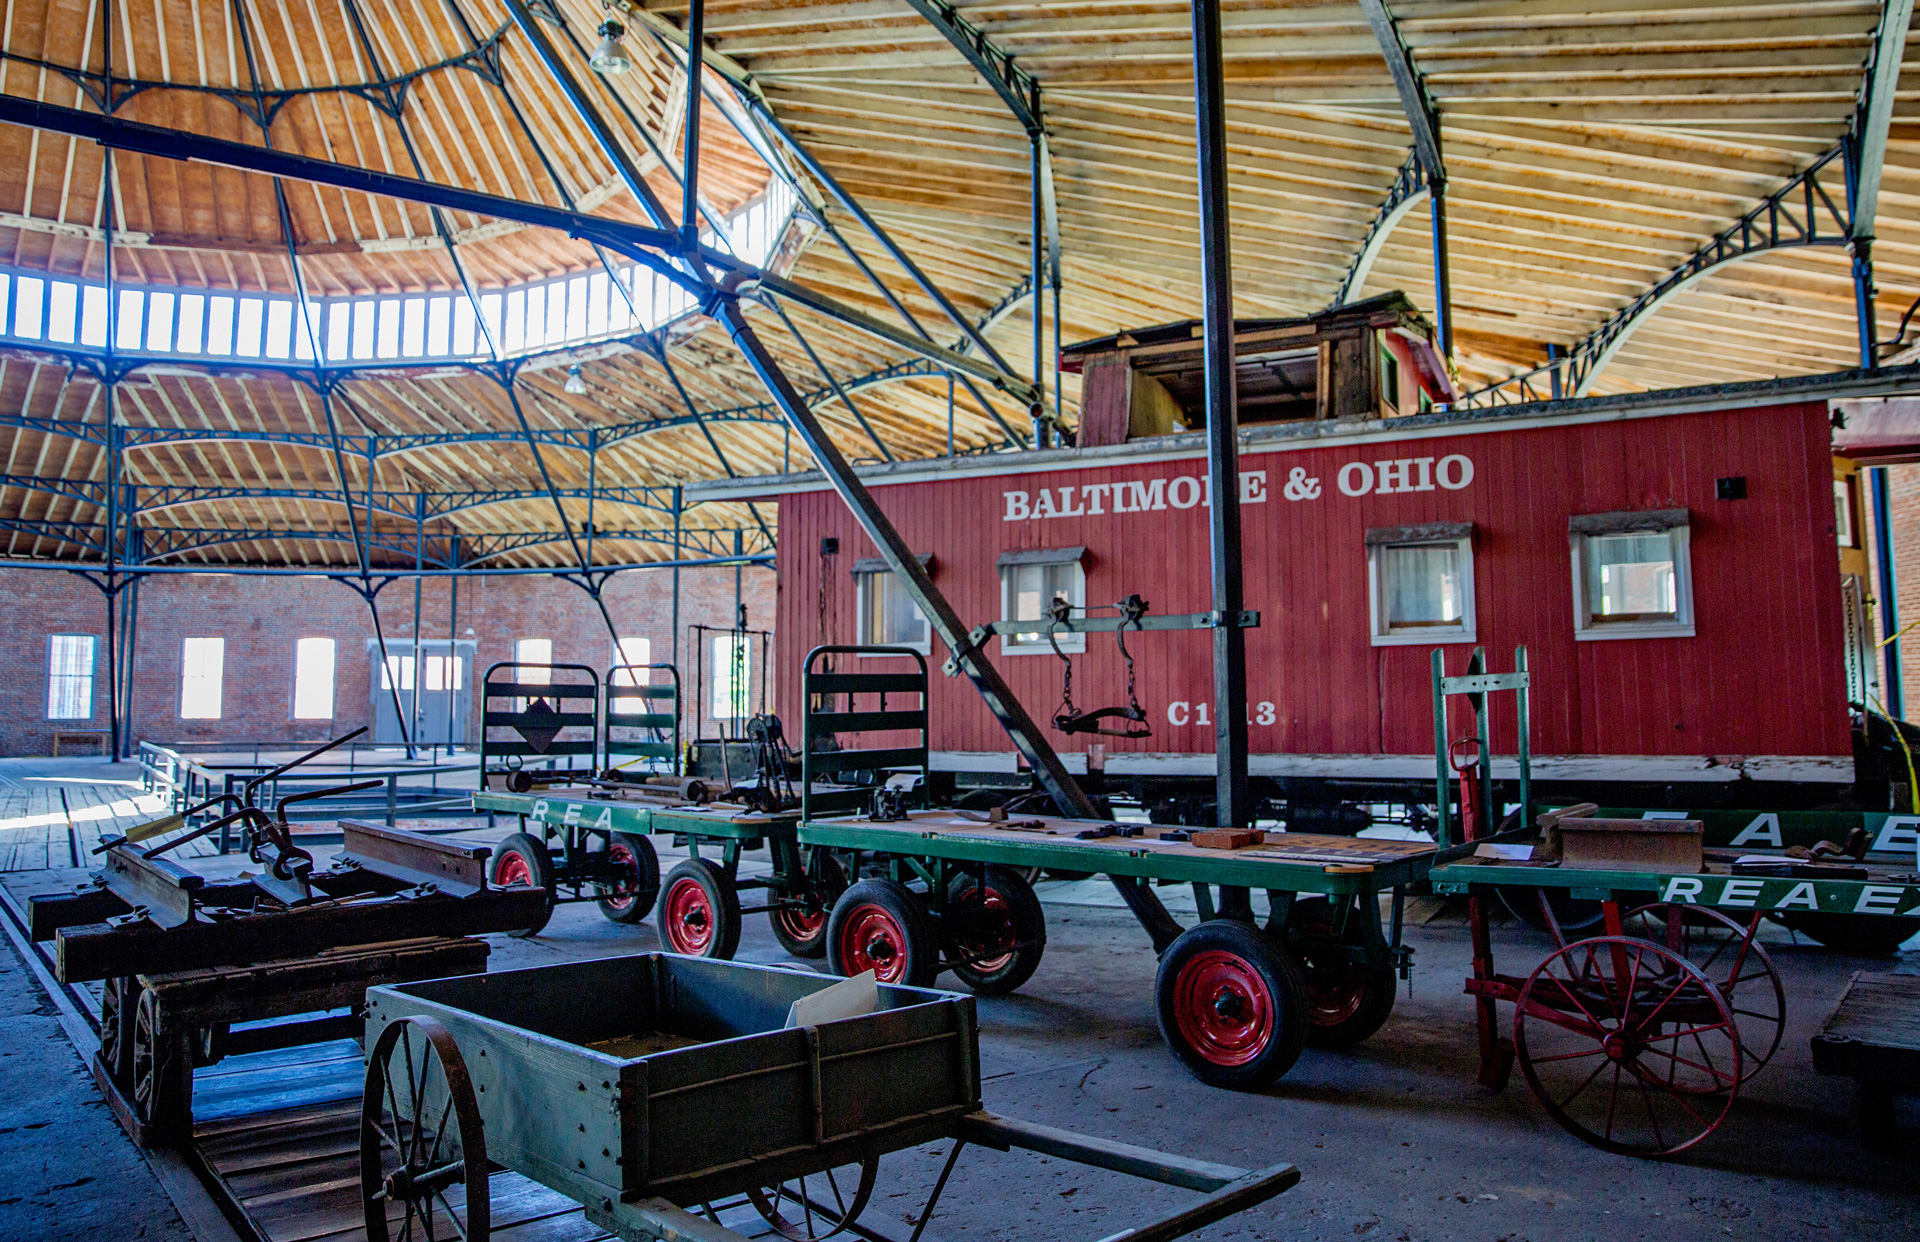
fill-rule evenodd
<path id="1" fill-rule="evenodd" d="M 1620 1156 L 1674 1156 L 1740 1092 L 1740 1029 L 1720 989 L 1665 944 L 1596 937 L 1521 987 L 1513 1054 L 1565 1131 Z"/>

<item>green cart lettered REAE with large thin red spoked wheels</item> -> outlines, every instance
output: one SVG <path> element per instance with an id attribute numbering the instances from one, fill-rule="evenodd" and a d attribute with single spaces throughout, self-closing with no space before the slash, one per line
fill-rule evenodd
<path id="1" fill-rule="evenodd" d="M 1757 939 L 1763 920 L 1912 918 L 1920 912 L 1914 854 L 1811 862 L 1741 845 L 1705 848 L 1699 870 L 1567 866 L 1553 856 L 1551 833 L 1563 827 L 1569 810 L 1594 816 L 1592 804 L 1549 810 L 1536 822 L 1523 795 L 1519 816 L 1507 820 L 1513 827 L 1496 831 L 1486 705 L 1494 691 L 1515 691 L 1524 739 L 1524 649 L 1511 674 L 1484 672 L 1476 651 L 1461 678 L 1444 676 L 1442 655 L 1434 653 L 1442 812 L 1455 745 L 1448 741 L 1446 701 L 1469 697 L 1476 724 L 1473 737 L 1461 739 L 1475 743 L 1475 762 L 1455 768 L 1463 785 L 1480 785 L 1478 797 L 1465 789 L 1463 802 L 1471 806 L 1459 820 L 1465 843 L 1450 848 L 1428 879 L 1436 895 L 1467 896 L 1473 967 L 1465 991 L 1476 1002 L 1480 1085 L 1501 1090 L 1517 1063 L 1548 1115 L 1578 1138 L 1624 1156 L 1686 1152 L 1718 1129 L 1740 1087 L 1780 1046 L 1786 989 Z M 1519 760 L 1526 789 L 1524 747 Z M 1636 820 L 1672 824 L 1665 814 Z M 1442 814 L 1442 847 L 1452 843 L 1452 831 L 1453 822 Z M 1538 925 L 1553 937 L 1553 950 L 1524 975 L 1494 967 L 1494 898 L 1517 912 L 1536 908 Z M 1569 900 L 1599 902 L 1597 933 L 1563 927 Z M 1496 1002 L 1513 1006 L 1505 1035 Z"/>

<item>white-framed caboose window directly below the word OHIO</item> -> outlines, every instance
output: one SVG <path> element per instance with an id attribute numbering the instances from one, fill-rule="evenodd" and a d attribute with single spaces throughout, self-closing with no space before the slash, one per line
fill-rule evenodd
<path id="1" fill-rule="evenodd" d="M 1373 645 L 1473 641 L 1473 524 L 1367 532 Z"/>

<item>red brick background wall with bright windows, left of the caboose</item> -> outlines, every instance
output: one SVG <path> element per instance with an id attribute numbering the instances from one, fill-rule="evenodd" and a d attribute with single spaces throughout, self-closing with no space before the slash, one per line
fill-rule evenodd
<path id="1" fill-rule="evenodd" d="M 685 626 L 733 624 L 732 568 L 684 570 L 680 578 L 680 666 L 691 691 L 693 657 Z M 741 601 L 755 628 L 772 628 L 774 574 L 741 570 Z M 420 591 L 420 637 L 474 643 L 474 666 L 513 658 L 522 637 L 553 639 L 555 662 L 605 670 L 612 641 L 593 601 L 580 587 L 543 576 L 468 578 L 459 584 L 457 633 L 449 635 L 449 580 L 426 580 Z M 90 584 L 54 570 L 0 570 L 0 754 L 46 754 L 56 728 L 108 724 L 106 603 Z M 628 572 L 605 587 L 607 612 L 622 637 L 645 637 L 655 660 L 672 658 L 672 574 Z M 378 595 L 386 639 L 413 639 L 413 584 L 399 580 Z M 119 622 L 115 620 L 115 626 Z M 48 635 L 92 633 L 92 720 L 50 722 Z M 361 597 L 324 578 L 244 578 L 156 574 L 138 595 L 132 657 L 131 737 L 159 743 L 323 741 L 371 720 L 374 637 Z M 223 637 L 225 678 L 219 720 L 180 718 L 180 653 L 188 637 Z M 332 637 L 336 647 L 334 718 L 294 720 L 294 645 Z M 708 662 L 710 662 L 708 651 Z M 755 651 L 758 660 L 758 651 Z M 755 670 L 758 697 L 762 672 Z M 478 676 L 474 678 L 478 680 Z M 758 703 L 755 703 L 758 706 Z M 689 705 L 691 714 L 691 705 Z M 478 737 L 478 695 L 468 737 Z"/>

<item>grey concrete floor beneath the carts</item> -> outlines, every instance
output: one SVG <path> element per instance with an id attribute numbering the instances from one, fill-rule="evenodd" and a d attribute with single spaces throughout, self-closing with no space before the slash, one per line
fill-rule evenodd
<path id="1" fill-rule="evenodd" d="M 1098 887 L 1058 896 L 1102 900 Z M 1920 1236 L 1920 1135 L 1897 1158 L 1864 1152 L 1851 1133 L 1851 1085 L 1814 1075 L 1807 1050 L 1849 971 L 1920 971 L 1920 952 L 1853 960 L 1768 933 L 1791 1019 L 1780 1052 L 1718 1135 L 1653 1163 L 1565 1135 L 1519 1075 L 1498 1096 L 1475 1085 L 1457 918 L 1409 927 L 1413 994 L 1402 991 L 1379 1035 L 1344 1054 L 1308 1050 L 1261 1094 L 1206 1088 L 1165 1052 L 1154 958 L 1123 910 L 1050 900 L 1048 935 L 1046 960 L 1020 994 L 979 1002 L 987 1108 L 1246 1167 L 1300 1165 L 1294 1190 L 1200 1238 Z M 651 921 L 628 929 L 591 906 L 563 906 L 538 939 L 499 937 L 493 967 L 655 946 Z M 1505 969 L 1530 967 L 1546 950 L 1546 937 L 1523 927 L 1496 931 Z M 791 964 L 764 916 L 749 916 L 739 958 Z M 186 1236 L 50 1012 L 23 964 L 0 952 L 0 1238 Z M 943 1159 L 945 1148 L 887 1158 L 870 1213 L 904 1238 L 900 1221 L 918 1211 Z M 970 1150 L 925 1236 L 1092 1240 L 1183 1194 L 1031 1154 Z"/>

